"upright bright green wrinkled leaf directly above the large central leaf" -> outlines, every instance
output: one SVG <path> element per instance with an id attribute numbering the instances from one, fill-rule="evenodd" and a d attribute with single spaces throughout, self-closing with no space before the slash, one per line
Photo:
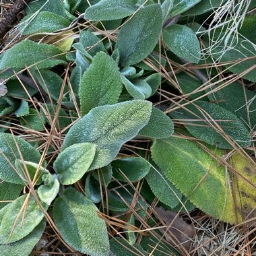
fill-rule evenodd
<path id="1" fill-rule="evenodd" d="M 106 53 L 98 53 L 81 79 L 82 115 L 96 106 L 117 103 L 121 91 L 121 74 L 117 63 Z"/>

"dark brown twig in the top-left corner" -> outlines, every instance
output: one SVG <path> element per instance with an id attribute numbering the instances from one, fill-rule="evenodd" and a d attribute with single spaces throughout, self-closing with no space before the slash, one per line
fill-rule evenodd
<path id="1" fill-rule="evenodd" d="M 3 18 L 0 21 L 0 38 L 2 39 L 9 27 L 15 22 L 16 15 L 24 9 L 29 0 L 17 0 L 11 7 L 6 11 Z"/>

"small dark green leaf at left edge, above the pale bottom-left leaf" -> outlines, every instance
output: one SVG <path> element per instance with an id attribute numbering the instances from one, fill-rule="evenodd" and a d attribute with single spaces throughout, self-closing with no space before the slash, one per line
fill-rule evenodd
<path id="1" fill-rule="evenodd" d="M 22 185 L 7 183 L 5 181 L 0 182 L 0 209 L 7 205 L 8 202 L 15 200 L 22 191 Z"/>

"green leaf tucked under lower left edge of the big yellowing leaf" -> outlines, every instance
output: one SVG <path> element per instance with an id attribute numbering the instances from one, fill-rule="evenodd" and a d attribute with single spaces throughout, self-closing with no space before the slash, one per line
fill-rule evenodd
<path id="1" fill-rule="evenodd" d="M 146 176 L 146 181 L 148 185 L 150 185 L 150 189 L 154 195 L 156 195 L 162 203 L 173 208 L 181 202 L 181 192 L 166 179 L 160 170 L 151 168 L 150 173 Z"/>

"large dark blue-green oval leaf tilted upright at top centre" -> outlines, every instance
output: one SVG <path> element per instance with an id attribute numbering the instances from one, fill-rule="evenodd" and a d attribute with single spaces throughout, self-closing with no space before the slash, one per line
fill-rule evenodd
<path id="1" fill-rule="evenodd" d="M 117 38 L 122 66 L 145 59 L 156 46 L 162 31 L 162 9 L 158 4 L 141 8 L 125 23 Z"/>

